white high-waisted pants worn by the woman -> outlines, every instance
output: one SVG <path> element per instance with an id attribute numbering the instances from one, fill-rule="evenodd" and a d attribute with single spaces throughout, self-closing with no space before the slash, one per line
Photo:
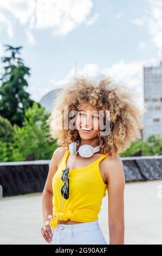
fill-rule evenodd
<path id="1" fill-rule="evenodd" d="M 58 224 L 51 231 L 49 245 L 107 245 L 99 221 L 78 224 Z"/>

